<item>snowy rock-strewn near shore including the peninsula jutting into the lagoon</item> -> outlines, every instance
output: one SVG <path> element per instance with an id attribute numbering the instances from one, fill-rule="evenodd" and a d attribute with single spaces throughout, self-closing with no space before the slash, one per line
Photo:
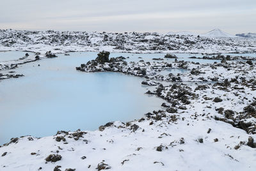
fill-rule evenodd
<path id="1" fill-rule="evenodd" d="M 142 60 L 142 59 L 141 59 Z M 127 62 L 102 51 L 77 71 L 116 71 L 143 77 L 163 110 L 96 131 L 12 138 L 0 147 L 3 170 L 253 170 L 256 67 L 253 61 Z M 185 73 L 161 75 L 168 69 Z M 150 87 L 150 88 L 149 88 Z M 149 90 L 150 89 L 150 90 Z M 22 158 L 26 160 L 22 160 Z M 15 162 L 14 162 L 15 161 Z M 209 165 L 211 168 L 209 169 Z"/>

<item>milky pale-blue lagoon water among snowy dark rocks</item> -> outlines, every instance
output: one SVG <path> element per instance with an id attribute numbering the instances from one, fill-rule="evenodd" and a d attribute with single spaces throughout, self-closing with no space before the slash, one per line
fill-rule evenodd
<path id="1" fill-rule="evenodd" d="M 26 52 L 0 52 L 1 61 L 12 61 Z M 97 57 L 98 52 L 58 54 L 15 69 L 25 77 L 0 82 L 0 144 L 12 137 L 44 137 L 58 130 L 95 130 L 109 121 L 131 121 L 161 109 L 164 101 L 144 94 L 147 86 L 140 77 L 122 73 L 84 73 L 76 66 Z M 154 61 L 165 54 L 111 53 L 110 57 L 129 57 L 127 61 Z M 189 59 L 201 54 L 176 54 L 179 60 L 214 63 L 214 60 Z M 164 59 L 174 61 L 174 59 Z M 156 61 L 157 62 L 157 61 Z M 38 66 L 40 64 L 40 66 Z M 4 71 L 0 71 L 4 72 Z M 177 74 L 185 70 L 169 70 Z"/>

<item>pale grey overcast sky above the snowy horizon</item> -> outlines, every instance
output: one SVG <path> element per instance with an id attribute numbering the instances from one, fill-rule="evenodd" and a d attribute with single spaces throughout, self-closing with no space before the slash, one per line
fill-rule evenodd
<path id="1" fill-rule="evenodd" d="M 0 29 L 256 33 L 256 0 L 1 0 Z"/>

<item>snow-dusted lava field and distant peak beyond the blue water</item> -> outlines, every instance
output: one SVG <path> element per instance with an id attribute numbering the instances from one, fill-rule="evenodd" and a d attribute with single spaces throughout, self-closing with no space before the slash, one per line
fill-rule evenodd
<path id="1" fill-rule="evenodd" d="M 185 34 L 185 35 L 184 35 Z M 70 51 L 109 52 L 255 52 L 256 40 L 230 37 L 218 29 L 198 37 L 188 32 L 97 33 L 79 31 L 0 30 L 0 50 L 28 50 L 45 53 Z"/>

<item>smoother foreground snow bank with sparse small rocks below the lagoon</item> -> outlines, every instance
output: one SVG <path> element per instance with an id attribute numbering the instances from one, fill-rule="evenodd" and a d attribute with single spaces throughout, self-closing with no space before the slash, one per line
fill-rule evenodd
<path id="1" fill-rule="evenodd" d="M 78 140 L 71 132 L 39 139 L 20 138 L 17 144 L 0 148 L 1 154 L 7 152 L 0 157 L 0 167 L 53 170 L 61 166 L 61 170 L 79 171 L 97 170 L 97 165 L 104 162 L 110 170 L 255 170 L 255 149 L 243 144 L 234 149 L 248 141 L 243 130 L 214 119 L 194 119 L 191 114 L 179 114 L 177 118 L 175 121 L 167 115 L 161 121 L 146 119 L 131 126 L 115 122 L 104 131 L 78 131 L 83 135 Z M 207 133 L 209 128 L 211 132 Z M 65 142 L 56 141 L 61 136 Z M 46 162 L 49 154 L 62 158 Z"/>

